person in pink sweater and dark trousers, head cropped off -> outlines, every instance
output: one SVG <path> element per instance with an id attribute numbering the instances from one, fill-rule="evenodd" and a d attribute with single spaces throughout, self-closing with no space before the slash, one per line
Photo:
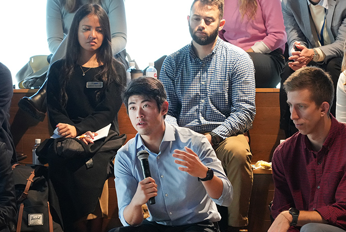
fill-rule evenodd
<path id="1" fill-rule="evenodd" d="M 219 36 L 250 55 L 256 88 L 275 88 L 287 41 L 280 0 L 226 0 L 223 18 Z"/>

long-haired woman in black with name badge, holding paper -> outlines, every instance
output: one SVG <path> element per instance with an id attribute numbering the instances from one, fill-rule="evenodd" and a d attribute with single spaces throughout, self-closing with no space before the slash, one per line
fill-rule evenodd
<path id="1" fill-rule="evenodd" d="M 101 230 L 107 166 L 126 140 L 117 120 L 126 71 L 113 58 L 110 41 L 106 12 L 96 4 L 82 6 L 71 24 L 65 58 L 48 73 L 49 121 L 61 137 L 54 141 L 49 173 L 65 231 Z M 109 124 L 108 136 L 94 141 L 93 133 Z"/>

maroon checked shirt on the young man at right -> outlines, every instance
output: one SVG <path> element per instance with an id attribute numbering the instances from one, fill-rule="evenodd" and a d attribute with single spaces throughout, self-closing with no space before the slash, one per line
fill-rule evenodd
<path id="1" fill-rule="evenodd" d="M 346 229 L 346 125 L 330 117 L 329 135 L 320 151 L 313 151 L 300 133 L 274 151 L 274 218 L 293 207 L 317 211 L 328 224 Z M 291 226 L 289 231 L 295 230 Z"/>

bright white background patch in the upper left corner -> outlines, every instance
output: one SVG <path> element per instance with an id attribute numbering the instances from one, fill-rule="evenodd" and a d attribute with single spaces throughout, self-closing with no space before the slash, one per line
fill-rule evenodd
<path id="1" fill-rule="evenodd" d="M 0 62 L 11 70 L 14 80 L 31 56 L 49 55 L 46 0 L 2 1 L 1 8 Z"/>

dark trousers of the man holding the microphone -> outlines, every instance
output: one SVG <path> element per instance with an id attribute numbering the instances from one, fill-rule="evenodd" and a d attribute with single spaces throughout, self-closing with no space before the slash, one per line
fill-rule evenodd
<path id="1" fill-rule="evenodd" d="M 168 226 L 143 220 L 139 226 L 124 226 L 109 230 L 109 232 L 220 232 L 217 224 L 211 221 L 198 222 L 188 225 Z"/>

